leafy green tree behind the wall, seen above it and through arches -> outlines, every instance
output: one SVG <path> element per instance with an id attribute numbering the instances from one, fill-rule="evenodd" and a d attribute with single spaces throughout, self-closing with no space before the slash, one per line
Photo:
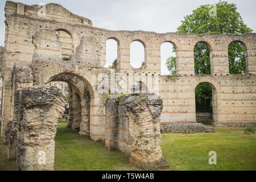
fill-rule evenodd
<path id="1" fill-rule="evenodd" d="M 234 3 L 218 2 L 216 4 L 216 16 L 210 16 L 210 11 L 213 11 L 213 6 L 211 5 L 202 5 L 196 10 L 193 10 L 191 15 L 185 16 L 184 20 L 181 21 L 181 26 L 177 28 L 177 32 L 196 34 L 206 34 L 208 32 L 245 34 L 253 31 L 243 22 Z M 242 44 L 238 42 L 230 43 L 228 52 L 230 74 L 246 73 L 245 48 Z M 196 75 L 210 75 L 209 55 L 210 49 L 207 44 L 196 44 L 194 48 Z M 175 75 L 176 57 L 170 57 L 166 65 L 171 75 Z M 205 96 L 212 96 L 212 91 L 208 84 L 200 84 L 196 89 L 201 90 Z M 204 99 L 204 97 L 202 95 L 199 96 L 199 92 L 196 91 L 196 98 L 197 97 L 200 98 L 200 104 L 209 103 L 208 97 Z M 203 99 L 204 101 L 202 101 Z M 199 100 L 196 100 L 196 105 L 199 105 Z"/>

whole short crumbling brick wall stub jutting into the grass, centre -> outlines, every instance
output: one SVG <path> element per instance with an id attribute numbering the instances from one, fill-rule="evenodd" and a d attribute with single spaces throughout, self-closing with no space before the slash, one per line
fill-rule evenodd
<path id="1" fill-rule="evenodd" d="M 144 169 L 168 167 L 160 147 L 162 103 L 154 94 L 110 96 L 106 101 L 106 147 L 121 150 Z"/>

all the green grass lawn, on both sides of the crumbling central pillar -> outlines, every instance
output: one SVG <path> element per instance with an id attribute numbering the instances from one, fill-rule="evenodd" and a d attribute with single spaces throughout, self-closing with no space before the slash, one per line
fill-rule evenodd
<path id="1" fill-rule="evenodd" d="M 109 151 L 105 143 L 93 142 L 59 123 L 55 138 L 55 170 L 139 170 L 120 151 Z M 245 128 L 216 128 L 209 134 L 163 134 L 163 156 L 167 170 L 256 170 L 256 134 Z M 209 165 L 209 151 L 217 152 L 217 165 Z M 0 170 L 13 170 L 0 139 Z"/>

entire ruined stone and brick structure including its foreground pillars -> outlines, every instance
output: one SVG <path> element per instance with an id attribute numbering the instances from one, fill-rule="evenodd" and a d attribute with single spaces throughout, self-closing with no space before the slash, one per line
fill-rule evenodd
<path id="1" fill-rule="evenodd" d="M 53 170 L 56 122 L 67 102 L 60 90 L 46 86 L 53 81 L 69 85 L 67 127 L 105 142 L 110 150 L 121 150 L 145 169 L 168 165 L 160 149 L 161 125 L 170 132 L 212 131 L 196 123 L 195 89 L 201 82 L 212 87 L 214 126 L 255 126 L 256 34 L 110 31 L 93 27 L 90 19 L 55 3 L 46 5 L 46 14 L 39 11 L 38 5 L 12 1 L 5 5 L 5 47 L 0 47 L 1 136 L 7 157 L 16 159 L 17 169 Z M 118 43 L 114 68 L 104 67 L 109 39 Z M 130 64 L 130 44 L 135 40 L 143 44 L 145 55 L 138 69 Z M 160 75 L 164 42 L 176 47 L 177 76 Z M 208 76 L 195 75 L 193 48 L 199 42 L 210 48 Z M 245 75 L 229 73 L 232 42 L 245 47 Z M 135 79 L 134 75 L 146 78 L 139 80 L 140 85 L 148 85 L 150 76 L 158 90 L 147 88 L 144 96 L 118 93 L 106 101 L 109 93 L 98 90 L 98 77 L 121 73 L 127 80 Z M 110 83 L 118 85 L 117 80 Z M 127 90 L 131 90 L 129 84 Z M 43 166 L 36 163 L 40 151 L 46 151 Z"/>

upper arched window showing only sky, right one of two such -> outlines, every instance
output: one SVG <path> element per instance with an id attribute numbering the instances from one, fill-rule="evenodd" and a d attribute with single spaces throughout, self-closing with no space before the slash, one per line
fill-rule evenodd
<path id="1" fill-rule="evenodd" d="M 144 46 L 138 40 L 131 43 L 130 46 L 130 64 L 133 68 L 142 68 L 145 62 Z"/>

